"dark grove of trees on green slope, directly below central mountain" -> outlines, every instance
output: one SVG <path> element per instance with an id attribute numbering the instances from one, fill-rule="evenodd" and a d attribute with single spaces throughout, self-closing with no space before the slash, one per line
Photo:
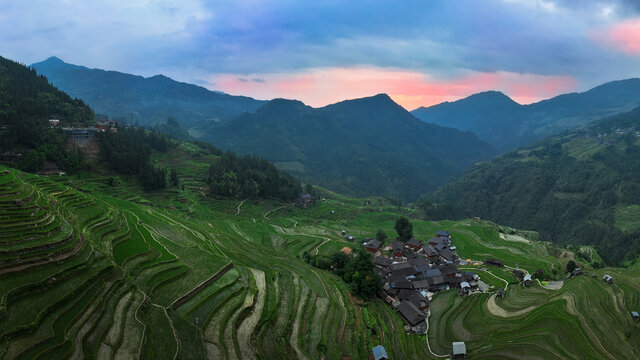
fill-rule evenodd
<path id="1" fill-rule="evenodd" d="M 209 191 L 215 196 L 290 201 L 302 188 L 293 176 L 255 156 L 225 152 L 209 167 Z"/>

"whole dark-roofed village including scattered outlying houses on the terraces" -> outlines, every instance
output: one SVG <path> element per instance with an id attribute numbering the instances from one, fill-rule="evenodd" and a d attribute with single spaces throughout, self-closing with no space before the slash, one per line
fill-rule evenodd
<path id="1" fill-rule="evenodd" d="M 343 236 L 354 238 L 344 231 Z M 396 240 L 382 246 L 379 240 L 368 239 L 362 243 L 362 247 L 374 256 L 375 271 L 383 283 L 378 295 L 398 311 L 406 324 L 407 333 L 426 333 L 430 302 L 438 291 L 458 289 L 460 296 L 468 296 L 490 290 L 489 285 L 477 274 L 462 271 L 458 266 L 487 265 L 505 268 L 504 263 L 498 259 L 488 258 L 483 262 L 460 259 L 456 253 L 456 246 L 452 243 L 451 234 L 443 230 L 437 231 L 436 236 L 430 238 L 427 243 L 411 237 L 407 242 Z M 511 270 L 523 286 L 531 285 L 531 274 L 520 269 Z M 567 277 L 581 274 L 583 270 L 576 268 L 569 272 Z M 604 275 L 602 280 L 613 284 L 613 277 L 610 275 Z M 497 297 L 504 295 L 504 288 L 497 289 Z M 636 321 L 640 319 L 637 312 L 632 312 L 632 316 Z M 373 348 L 372 353 L 375 360 L 388 359 L 386 350 L 381 345 Z M 453 342 L 450 355 L 454 359 L 465 358 L 465 343 Z"/>

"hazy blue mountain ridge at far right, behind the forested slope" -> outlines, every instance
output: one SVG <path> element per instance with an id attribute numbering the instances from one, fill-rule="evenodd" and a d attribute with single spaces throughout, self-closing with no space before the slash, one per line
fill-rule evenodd
<path id="1" fill-rule="evenodd" d="M 411 113 L 429 123 L 472 131 L 504 152 L 636 106 L 640 106 L 640 79 L 633 78 L 529 105 L 488 91 Z"/>

